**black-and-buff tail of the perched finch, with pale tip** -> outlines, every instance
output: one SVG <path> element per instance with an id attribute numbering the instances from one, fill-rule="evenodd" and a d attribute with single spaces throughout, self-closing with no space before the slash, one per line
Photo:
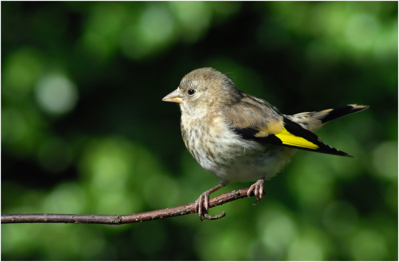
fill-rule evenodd
<path id="1" fill-rule="evenodd" d="M 317 112 L 304 112 L 286 116 L 290 120 L 300 124 L 303 128 L 314 131 L 322 127 L 326 122 L 335 118 L 356 113 L 369 108 L 368 105 L 348 104 L 332 109 Z"/>

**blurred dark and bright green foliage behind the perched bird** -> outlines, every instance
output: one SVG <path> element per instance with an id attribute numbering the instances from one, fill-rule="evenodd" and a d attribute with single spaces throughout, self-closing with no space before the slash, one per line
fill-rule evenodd
<path id="1" fill-rule="evenodd" d="M 161 98 L 193 69 L 293 114 L 368 104 L 243 199 L 132 225 L 4 224 L 2 260 L 398 260 L 398 2 L 1 2 L 1 213 L 130 214 L 219 181 Z M 250 183 L 233 183 L 219 193 Z"/>

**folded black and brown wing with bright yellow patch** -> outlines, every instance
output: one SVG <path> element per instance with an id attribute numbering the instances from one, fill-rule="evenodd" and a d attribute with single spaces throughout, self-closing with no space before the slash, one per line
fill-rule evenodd
<path id="1" fill-rule="evenodd" d="M 323 143 L 316 134 L 286 118 L 266 101 L 250 95 L 228 106 L 223 115 L 244 139 L 351 157 Z"/>

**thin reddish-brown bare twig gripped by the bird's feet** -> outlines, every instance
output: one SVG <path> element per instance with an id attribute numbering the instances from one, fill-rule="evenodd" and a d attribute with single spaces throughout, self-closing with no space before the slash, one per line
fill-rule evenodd
<path id="1" fill-rule="evenodd" d="M 248 188 L 233 190 L 209 199 L 209 208 L 222 205 L 247 196 Z M 251 192 L 250 196 L 253 196 Z M 91 223 L 120 225 L 128 223 L 143 222 L 167 217 L 183 216 L 196 213 L 195 202 L 187 205 L 169 207 L 154 211 L 148 211 L 131 215 L 78 215 L 78 214 L 4 214 L 1 215 L 1 224 L 7 223 Z M 213 220 L 221 218 L 226 213 L 209 216 L 205 219 Z"/>

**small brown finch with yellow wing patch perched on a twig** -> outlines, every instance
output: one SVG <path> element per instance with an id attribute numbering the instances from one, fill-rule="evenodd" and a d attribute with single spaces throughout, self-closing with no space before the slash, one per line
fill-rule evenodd
<path id="1" fill-rule="evenodd" d="M 201 221 L 209 212 L 209 195 L 230 182 L 255 181 L 247 195 L 253 192 L 254 204 L 262 200 L 265 179 L 278 174 L 298 149 L 352 157 L 325 144 L 313 132 L 330 120 L 369 108 L 348 104 L 282 114 L 210 67 L 185 75 L 179 87 L 162 100 L 180 104 L 186 148 L 202 168 L 220 179 L 195 201 Z"/>

